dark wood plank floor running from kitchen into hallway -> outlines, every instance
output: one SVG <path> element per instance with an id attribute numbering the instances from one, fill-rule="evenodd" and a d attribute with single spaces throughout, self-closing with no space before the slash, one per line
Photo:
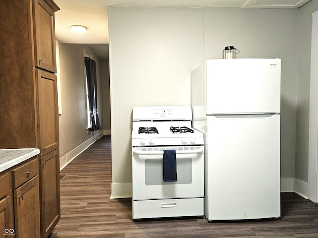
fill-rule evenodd
<path id="1" fill-rule="evenodd" d="M 61 171 L 61 220 L 49 238 L 318 238 L 318 204 L 295 193 L 281 194 L 282 217 L 274 221 L 134 222 L 131 198 L 109 199 L 110 140 L 103 136 Z"/>

